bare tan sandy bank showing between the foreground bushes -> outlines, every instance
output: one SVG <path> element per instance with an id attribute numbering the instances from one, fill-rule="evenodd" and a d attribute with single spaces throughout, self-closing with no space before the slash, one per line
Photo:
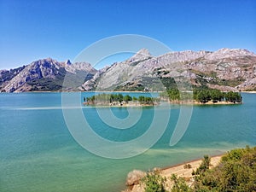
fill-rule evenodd
<path id="1" fill-rule="evenodd" d="M 223 154 L 220 155 L 216 155 L 216 156 L 212 156 L 211 157 L 211 166 L 210 168 L 217 166 L 218 163 L 221 160 L 221 157 L 223 156 Z M 160 169 L 160 175 L 163 177 L 166 177 L 167 179 L 167 183 L 166 183 L 166 187 L 167 189 L 171 189 L 172 188 L 172 181 L 170 180 L 170 177 L 172 176 L 172 174 L 176 174 L 177 177 L 184 177 L 185 180 L 189 183 L 191 183 L 191 178 L 192 178 L 192 172 L 193 170 L 196 170 L 196 168 L 198 168 L 201 165 L 201 160 L 192 160 L 189 162 L 184 162 L 182 164 L 178 164 L 176 166 L 170 166 L 170 167 L 164 167 L 162 169 Z M 189 164 L 191 166 L 191 168 L 184 168 L 185 165 Z M 127 189 L 125 190 L 125 192 L 143 192 L 143 185 L 140 184 L 136 184 L 132 187 L 132 189 Z"/>

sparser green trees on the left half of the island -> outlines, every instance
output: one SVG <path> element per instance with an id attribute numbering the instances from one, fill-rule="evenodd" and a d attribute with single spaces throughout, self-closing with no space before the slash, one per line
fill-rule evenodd
<path id="1" fill-rule="evenodd" d="M 160 102 L 159 98 L 154 98 L 150 96 L 139 96 L 139 97 L 131 97 L 129 95 L 123 96 L 121 93 L 119 94 L 98 94 L 95 96 L 90 96 L 90 97 L 84 97 L 84 102 L 86 104 L 120 104 L 122 105 L 123 102 L 128 103 L 128 102 L 139 102 L 142 105 L 154 105 L 155 103 Z"/>

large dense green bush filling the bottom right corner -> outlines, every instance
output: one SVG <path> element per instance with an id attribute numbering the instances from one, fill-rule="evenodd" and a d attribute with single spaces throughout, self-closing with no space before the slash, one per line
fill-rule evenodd
<path id="1" fill-rule="evenodd" d="M 256 147 L 231 150 L 218 166 L 198 173 L 194 191 L 256 191 Z"/>

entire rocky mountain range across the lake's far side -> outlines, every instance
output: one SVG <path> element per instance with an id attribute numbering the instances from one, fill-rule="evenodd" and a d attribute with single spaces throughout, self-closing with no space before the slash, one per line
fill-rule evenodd
<path id="1" fill-rule="evenodd" d="M 1 92 L 164 90 L 184 81 L 193 87 L 256 90 L 256 55 L 247 49 L 218 49 L 153 56 L 148 49 L 141 49 L 100 70 L 87 62 L 51 58 L 0 70 Z"/>

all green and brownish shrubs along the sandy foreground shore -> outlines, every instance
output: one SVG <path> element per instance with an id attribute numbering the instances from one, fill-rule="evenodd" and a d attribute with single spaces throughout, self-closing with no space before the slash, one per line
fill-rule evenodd
<path id="1" fill-rule="evenodd" d="M 172 175 L 171 192 L 254 192 L 256 191 L 256 147 L 237 148 L 225 154 L 218 166 L 209 169 L 211 159 L 205 155 L 201 165 L 192 172 L 194 183 L 189 187 L 185 178 Z M 165 191 L 166 178 L 159 172 L 143 178 L 146 192 Z"/>

